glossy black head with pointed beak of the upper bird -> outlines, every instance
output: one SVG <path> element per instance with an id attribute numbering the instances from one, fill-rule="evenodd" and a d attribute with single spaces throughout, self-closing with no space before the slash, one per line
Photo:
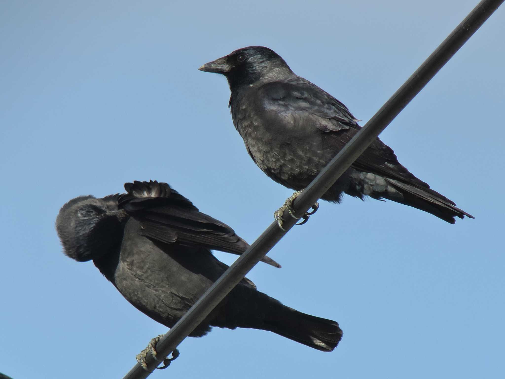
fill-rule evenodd
<path id="1" fill-rule="evenodd" d="M 256 82 L 269 83 L 293 76 L 286 62 L 273 50 L 263 46 L 249 46 L 206 63 L 198 70 L 223 74 L 230 89 Z"/>

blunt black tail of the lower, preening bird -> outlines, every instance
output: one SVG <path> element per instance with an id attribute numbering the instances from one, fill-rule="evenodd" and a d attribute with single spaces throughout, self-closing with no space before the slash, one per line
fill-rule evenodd
<path id="1" fill-rule="evenodd" d="M 338 322 L 311 316 L 281 305 L 262 329 L 321 351 L 332 351 L 342 339 Z"/>

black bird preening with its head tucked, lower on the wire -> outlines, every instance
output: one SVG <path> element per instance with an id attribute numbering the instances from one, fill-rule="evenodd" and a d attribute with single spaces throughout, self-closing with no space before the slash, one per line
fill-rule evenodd
<path id="1" fill-rule="evenodd" d="M 138 310 L 172 327 L 228 266 L 210 249 L 241 254 L 247 243 L 226 224 L 198 209 L 167 183 L 125 184 L 126 194 L 80 196 L 56 219 L 64 252 L 95 266 Z M 264 262 L 280 267 L 272 259 Z M 321 351 L 342 337 L 338 323 L 282 305 L 244 278 L 197 326 L 270 330 Z"/>

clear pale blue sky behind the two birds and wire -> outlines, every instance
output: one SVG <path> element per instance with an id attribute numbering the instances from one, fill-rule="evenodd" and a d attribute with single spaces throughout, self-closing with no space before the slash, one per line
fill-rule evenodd
<path id="1" fill-rule="evenodd" d="M 291 195 L 249 158 L 225 78 L 201 64 L 268 46 L 364 125 L 476 4 L 0 2 L 0 372 L 122 377 L 166 332 L 91 262 L 62 254 L 54 222 L 66 201 L 166 181 L 252 242 Z M 283 267 L 259 264 L 248 277 L 337 320 L 338 348 L 215 328 L 152 377 L 501 377 L 504 35 L 502 7 L 381 135 L 475 220 L 323 202 L 270 253 Z"/>

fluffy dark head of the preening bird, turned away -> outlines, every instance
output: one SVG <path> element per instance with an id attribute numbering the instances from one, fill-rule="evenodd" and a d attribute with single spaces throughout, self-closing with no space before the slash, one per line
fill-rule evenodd
<path id="1" fill-rule="evenodd" d="M 117 196 L 79 196 L 66 203 L 56 218 L 64 253 L 79 262 L 98 258 L 121 242 Z"/>

